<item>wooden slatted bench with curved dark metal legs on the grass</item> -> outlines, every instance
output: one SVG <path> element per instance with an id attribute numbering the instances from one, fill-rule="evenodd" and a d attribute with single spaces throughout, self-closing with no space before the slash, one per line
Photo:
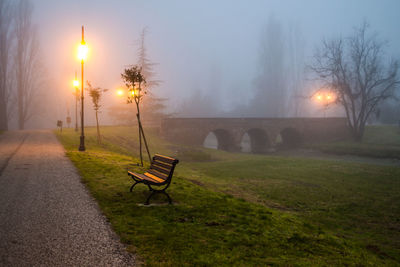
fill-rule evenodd
<path id="1" fill-rule="evenodd" d="M 143 183 L 147 185 L 151 194 L 146 200 L 145 205 L 149 205 L 150 198 L 157 194 L 163 193 L 167 196 L 169 204 L 172 204 L 172 200 L 165 190 L 169 187 L 172 179 L 172 175 L 174 174 L 174 169 L 176 164 L 178 164 L 179 160 L 166 157 L 163 155 L 156 154 L 153 157 L 153 160 L 150 165 L 150 169 L 148 169 L 145 173 L 135 173 L 128 171 L 128 175 L 135 181 L 135 183 L 131 186 L 130 191 L 132 192 L 135 185 L 139 183 Z M 162 187 L 162 189 L 154 189 L 153 186 Z"/>

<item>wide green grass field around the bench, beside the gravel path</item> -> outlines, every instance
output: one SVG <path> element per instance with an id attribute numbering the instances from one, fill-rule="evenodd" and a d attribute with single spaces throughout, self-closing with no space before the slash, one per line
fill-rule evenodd
<path id="1" fill-rule="evenodd" d="M 379 129 L 378 129 L 379 130 Z M 168 144 L 148 131 L 151 151 L 177 156 L 176 205 L 145 207 L 129 192 L 137 130 L 57 133 L 91 194 L 128 249 L 148 266 L 400 266 L 400 168 L 226 153 Z M 155 201 L 163 202 L 160 196 Z"/>

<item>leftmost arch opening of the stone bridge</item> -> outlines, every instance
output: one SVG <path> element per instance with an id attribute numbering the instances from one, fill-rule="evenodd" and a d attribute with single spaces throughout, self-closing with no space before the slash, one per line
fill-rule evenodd
<path id="1" fill-rule="evenodd" d="M 204 138 L 203 146 L 207 148 L 226 151 L 234 150 L 235 144 L 232 134 L 226 129 L 215 129 L 208 132 Z"/>

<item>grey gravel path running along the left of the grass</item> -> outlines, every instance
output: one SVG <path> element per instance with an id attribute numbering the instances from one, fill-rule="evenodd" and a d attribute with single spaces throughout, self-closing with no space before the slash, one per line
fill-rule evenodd
<path id="1" fill-rule="evenodd" d="M 133 266 L 50 131 L 0 136 L 0 266 Z"/>

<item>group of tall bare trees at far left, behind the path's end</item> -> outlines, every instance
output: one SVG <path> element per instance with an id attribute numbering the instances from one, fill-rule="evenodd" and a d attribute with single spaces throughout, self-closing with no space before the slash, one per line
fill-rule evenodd
<path id="1" fill-rule="evenodd" d="M 0 0 L 0 130 L 12 119 L 24 129 L 41 106 L 45 75 L 32 12 L 28 0 Z"/>

